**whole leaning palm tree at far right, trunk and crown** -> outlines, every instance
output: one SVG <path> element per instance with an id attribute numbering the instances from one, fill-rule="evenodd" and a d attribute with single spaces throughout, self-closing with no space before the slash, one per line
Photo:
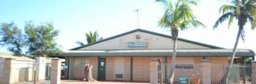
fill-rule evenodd
<path id="1" fill-rule="evenodd" d="M 232 64 L 234 61 L 234 57 L 236 54 L 236 48 L 239 41 L 239 38 L 242 37 L 242 40 L 244 41 L 244 25 L 249 21 L 251 23 L 252 29 L 256 27 L 256 0 L 233 0 L 231 1 L 231 4 L 233 5 L 223 5 L 219 8 L 219 12 L 223 13 L 222 16 L 218 18 L 214 25 L 214 29 L 218 27 L 219 24 L 224 22 L 225 20 L 229 20 L 228 28 L 233 22 L 233 19 L 238 20 L 238 33 L 236 36 L 236 42 L 235 46 L 233 48 L 233 52 L 231 54 L 231 59 L 229 62 L 229 70 L 227 71 L 228 75 L 226 77 L 224 76 L 220 82 L 227 83 L 230 70 L 232 68 Z"/>

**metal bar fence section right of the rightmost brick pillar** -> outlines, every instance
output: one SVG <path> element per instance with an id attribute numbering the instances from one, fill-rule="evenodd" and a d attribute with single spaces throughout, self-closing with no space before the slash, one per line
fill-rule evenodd
<path id="1" fill-rule="evenodd" d="M 229 67 L 228 64 L 212 64 L 212 84 L 251 84 L 251 65 L 233 64 L 227 79 Z"/>

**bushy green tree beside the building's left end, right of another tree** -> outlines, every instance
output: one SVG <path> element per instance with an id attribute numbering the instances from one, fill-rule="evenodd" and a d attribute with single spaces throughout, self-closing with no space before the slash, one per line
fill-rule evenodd
<path id="1" fill-rule="evenodd" d="M 48 57 L 62 53 L 59 45 L 55 42 L 59 31 L 54 30 L 52 23 L 35 25 L 33 22 L 26 22 L 24 30 L 27 39 L 27 54 Z"/>

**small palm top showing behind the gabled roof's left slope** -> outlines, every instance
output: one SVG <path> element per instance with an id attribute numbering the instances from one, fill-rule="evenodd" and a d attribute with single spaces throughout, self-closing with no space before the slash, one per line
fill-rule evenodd
<path id="1" fill-rule="evenodd" d="M 103 39 L 102 37 L 99 38 L 99 33 L 98 33 L 97 31 L 95 31 L 93 34 L 92 34 L 92 32 L 90 31 L 89 34 L 86 33 L 85 36 L 86 36 L 87 44 L 93 43 L 93 42 L 95 42 L 95 41 L 98 41 L 98 40 L 102 40 L 102 39 Z M 82 46 L 82 45 L 85 45 L 85 43 L 80 42 L 80 41 L 76 41 L 76 43 L 79 44 L 79 45 L 81 45 L 81 46 Z"/>

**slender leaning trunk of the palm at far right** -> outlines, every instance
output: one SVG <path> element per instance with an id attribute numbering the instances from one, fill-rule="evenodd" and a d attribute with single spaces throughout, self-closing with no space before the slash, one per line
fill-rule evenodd
<path id="1" fill-rule="evenodd" d="M 237 48 L 237 45 L 238 45 L 238 41 L 239 41 L 239 38 L 241 36 L 241 29 L 238 30 L 238 33 L 237 33 L 237 36 L 236 36 L 236 42 L 235 42 L 235 46 L 233 48 L 233 52 L 231 54 L 231 58 L 230 58 L 230 61 L 229 61 L 229 70 L 224 74 L 224 76 L 222 77 L 222 79 L 220 80 L 220 83 L 219 84 L 222 84 L 222 83 L 225 83 L 227 84 L 228 83 L 228 80 L 229 80 L 229 76 L 230 76 L 230 72 L 231 72 L 231 69 L 232 69 L 232 64 L 234 62 L 234 58 L 235 58 L 235 55 L 236 55 L 236 48 Z"/>

